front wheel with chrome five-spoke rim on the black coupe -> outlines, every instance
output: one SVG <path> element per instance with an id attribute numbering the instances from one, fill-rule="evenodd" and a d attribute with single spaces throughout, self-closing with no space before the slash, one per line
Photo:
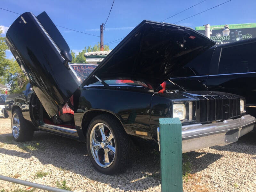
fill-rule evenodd
<path id="1" fill-rule="evenodd" d="M 105 141 L 102 139 L 103 131 L 100 129 L 104 130 Z M 131 164 L 135 151 L 135 145 L 124 131 L 122 124 L 113 116 L 106 114 L 92 119 L 87 129 L 86 146 L 93 166 L 107 175 L 124 172 Z"/>

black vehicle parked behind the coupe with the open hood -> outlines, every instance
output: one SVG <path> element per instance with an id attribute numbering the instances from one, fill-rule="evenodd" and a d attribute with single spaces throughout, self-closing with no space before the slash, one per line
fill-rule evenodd
<path id="1" fill-rule="evenodd" d="M 170 80 L 185 90 L 243 95 L 246 99 L 246 112 L 256 117 L 255 50 L 256 38 L 214 45 L 173 72 Z M 168 82 L 166 86 L 171 88 L 174 85 Z"/>

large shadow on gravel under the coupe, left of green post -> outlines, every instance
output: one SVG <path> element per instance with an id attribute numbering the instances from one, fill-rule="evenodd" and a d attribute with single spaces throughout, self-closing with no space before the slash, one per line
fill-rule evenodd
<path id="1" fill-rule="evenodd" d="M 23 150 L 21 152 L 4 149 L 3 146 L 0 146 L 0 153 L 2 154 L 25 159 L 34 156 L 42 164 L 52 164 L 61 171 L 81 174 L 91 180 L 107 183 L 112 188 L 124 190 L 129 188 L 130 190 L 142 191 L 160 184 L 159 153 L 152 149 L 137 149 L 136 158 L 124 173 L 104 175 L 92 166 L 85 143 L 76 140 L 36 131 L 33 140 L 28 142 L 13 141 L 11 133 L 1 134 L 0 142 L 4 143 L 2 145 L 16 145 Z"/>

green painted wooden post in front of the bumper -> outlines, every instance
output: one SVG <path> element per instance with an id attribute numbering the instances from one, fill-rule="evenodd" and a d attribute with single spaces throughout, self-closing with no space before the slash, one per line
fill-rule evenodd
<path id="1" fill-rule="evenodd" d="M 181 123 L 179 118 L 159 119 L 161 191 L 182 192 Z"/>

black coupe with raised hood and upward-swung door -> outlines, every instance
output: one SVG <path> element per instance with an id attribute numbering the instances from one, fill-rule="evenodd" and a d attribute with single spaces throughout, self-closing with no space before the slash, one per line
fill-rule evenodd
<path id="1" fill-rule="evenodd" d="M 105 174 L 130 164 L 134 140 L 159 148 L 159 118 L 180 119 L 183 153 L 235 142 L 256 122 L 242 96 L 162 90 L 173 70 L 215 44 L 191 28 L 144 20 L 92 72 L 79 70 L 83 81 L 45 12 L 20 15 L 6 43 L 29 80 L 5 102 L 14 140 L 30 140 L 35 130 L 81 140 Z"/>

